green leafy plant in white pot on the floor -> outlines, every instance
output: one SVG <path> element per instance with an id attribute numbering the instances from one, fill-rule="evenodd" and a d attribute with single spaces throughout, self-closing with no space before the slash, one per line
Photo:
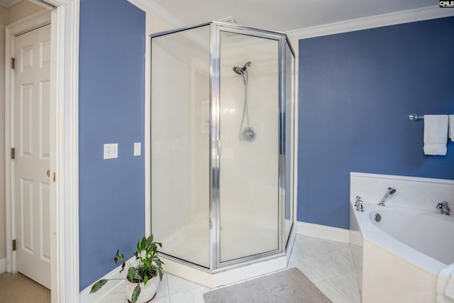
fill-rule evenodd
<path id="1" fill-rule="evenodd" d="M 125 259 L 120 250 L 116 251 L 114 258 L 115 263 L 122 261 L 121 270 L 123 271 L 125 265 L 128 265 L 128 275 L 126 275 L 126 297 L 131 303 L 145 303 L 150 302 L 157 292 L 160 280 L 162 280 L 164 264 L 157 255 L 157 246 L 162 248 L 159 242 L 153 242 L 153 235 L 148 238 L 143 237 L 137 243 L 137 250 L 134 256 L 137 265 L 133 266 L 128 260 Z M 158 279 L 159 277 L 159 279 Z M 110 279 L 109 279 L 110 280 Z M 97 292 L 101 287 L 106 284 L 108 280 L 99 280 L 94 283 L 90 294 Z"/>

